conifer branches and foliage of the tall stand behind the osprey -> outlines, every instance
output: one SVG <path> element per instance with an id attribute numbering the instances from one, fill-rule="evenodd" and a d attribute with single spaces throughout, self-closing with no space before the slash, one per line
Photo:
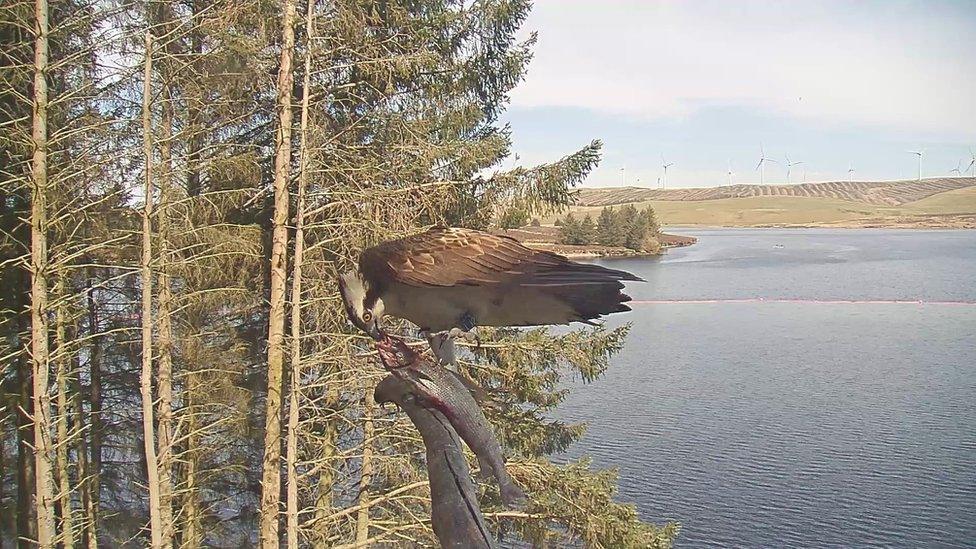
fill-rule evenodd
<path id="1" fill-rule="evenodd" d="M 38 539 L 43 522 L 33 499 L 36 427 L 64 449 L 45 455 L 54 534 L 66 545 L 252 546 L 269 472 L 289 481 L 297 505 L 281 513 L 289 526 L 277 535 L 291 546 L 433 542 L 419 437 L 402 416 L 373 406 L 368 395 L 384 372 L 348 325 L 337 274 L 365 246 L 430 225 L 522 226 L 560 212 L 601 144 L 503 167 L 511 136 L 498 119 L 534 43 L 516 38 L 527 0 L 292 5 L 289 75 L 278 3 L 52 3 L 50 66 L 40 70 L 50 96 L 43 196 L 31 163 L 39 68 L 30 29 L 39 12 L 0 6 L 4 536 Z M 273 75 L 290 78 L 279 84 Z M 285 97 L 290 123 L 276 109 Z M 290 144 L 280 141 L 282 120 Z M 273 188 L 276 175 L 283 188 Z M 46 250 L 31 242 L 32 207 L 48 220 Z M 641 226 L 656 226 L 653 212 L 642 215 Z M 567 219 L 563 229 L 574 242 L 599 240 L 602 223 L 601 213 L 595 225 Z M 273 273 L 275 244 L 290 263 Z M 301 270 L 292 259 L 298 244 Z M 32 253 L 47 260 L 44 303 L 32 294 Z M 269 387 L 269 301 L 282 272 L 279 290 L 301 281 L 284 307 L 299 312 L 283 339 L 296 352 Z M 32 333 L 32 304 L 49 324 L 46 337 Z M 144 321 L 152 322 L 148 345 Z M 646 524 L 613 503 L 613 474 L 546 461 L 584 431 L 548 418 L 565 397 L 560 379 L 602 375 L 625 334 L 486 330 L 481 347 L 462 352 L 464 374 L 500 404 L 489 416 L 532 500 L 525 513 L 496 516 L 506 535 L 594 547 L 664 547 L 675 536 L 673 525 Z M 51 375 L 48 391 L 35 393 L 42 378 L 28 350 L 41 338 L 50 352 L 34 362 Z M 148 409 L 143 353 L 151 353 Z M 262 471 L 266 446 L 283 442 L 265 441 L 273 392 L 288 397 L 283 414 L 297 416 L 282 434 L 293 453 L 287 466 L 273 461 Z M 35 414 L 37 425 L 25 413 L 35 401 L 50 412 Z M 156 440 L 144 439 L 150 415 Z M 150 485 L 161 489 L 155 528 L 147 527 Z M 497 499 L 485 489 L 491 516 Z"/>

